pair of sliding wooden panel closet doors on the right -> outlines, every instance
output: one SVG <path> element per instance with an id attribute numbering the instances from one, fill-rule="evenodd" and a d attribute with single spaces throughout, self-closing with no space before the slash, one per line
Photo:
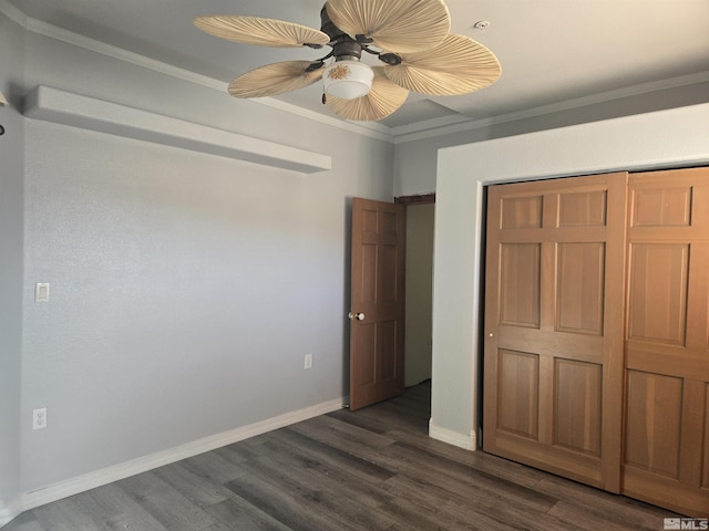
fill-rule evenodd
<path id="1" fill-rule="evenodd" d="M 709 509 L 709 168 L 489 187 L 483 449 Z"/>

